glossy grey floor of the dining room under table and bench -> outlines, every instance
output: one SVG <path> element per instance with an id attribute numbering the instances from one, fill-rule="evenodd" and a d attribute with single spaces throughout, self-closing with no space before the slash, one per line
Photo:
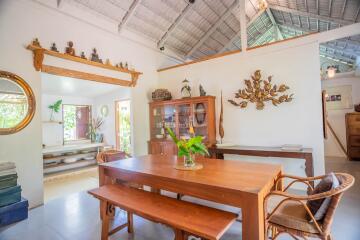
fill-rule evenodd
<path id="1" fill-rule="evenodd" d="M 328 158 L 327 171 L 348 172 L 360 179 L 360 162 Z M 98 240 L 100 239 L 100 219 L 98 201 L 85 192 L 73 193 L 30 211 L 29 219 L 0 229 L 0 240 Z M 229 209 L 228 209 L 229 210 Z M 234 210 L 234 209 L 231 209 Z M 235 211 L 237 211 L 235 209 Z M 125 220 L 125 215 L 117 213 L 116 219 Z M 336 240 L 360 239 L 360 182 L 345 194 L 336 213 L 333 236 Z M 111 236 L 115 239 L 172 240 L 170 228 L 135 217 L 135 234 L 120 231 Z M 222 240 L 241 239 L 241 223 L 236 222 Z M 280 239 L 290 239 L 283 236 Z"/>

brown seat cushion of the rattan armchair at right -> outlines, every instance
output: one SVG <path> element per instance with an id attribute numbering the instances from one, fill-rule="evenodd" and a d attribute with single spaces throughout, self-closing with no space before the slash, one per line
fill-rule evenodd
<path id="1" fill-rule="evenodd" d="M 271 197 L 268 212 L 272 212 L 282 199 L 284 198 L 280 196 Z M 285 201 L 271 216 L 269 222 L 302 232 L 319 233 L 314 223 L 308 220 L 306 210 L 300 202 Z"/>

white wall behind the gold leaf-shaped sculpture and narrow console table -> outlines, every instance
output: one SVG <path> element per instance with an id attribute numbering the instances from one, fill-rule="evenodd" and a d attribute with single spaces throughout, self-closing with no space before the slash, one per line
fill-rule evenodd
<path id="1" fill-rule="evenodd" d="M 195 95 L 202 84 L 209 95 L 217 97 L 217 116 L 222 90 L 225 142 L 254 146 L 302 144 L 314 149 L 315 174 L 321 174 L 324 143 L 318 56 L 316 42 L 300 46 L 277 44 L 160 72 L 160 87 L 179 97 L 184 78 L 191 81 Z M 262 70 L 263 77 L 273 75 L 273 83 L 286 83 L 289 92 L 295 94 L 293 102 L 278 107 L 267 103 L 262 111 L 253 104 L 243 110 L 229 104 L 227 100 L 234 98 L 234 93 L 244 87 L 244 79 L 249 79 L 257 69 Z M 256 161 L 268 159 L 256 158 Z M 304 176 L 304 161 L 278 161 L 288 173 Z"/>

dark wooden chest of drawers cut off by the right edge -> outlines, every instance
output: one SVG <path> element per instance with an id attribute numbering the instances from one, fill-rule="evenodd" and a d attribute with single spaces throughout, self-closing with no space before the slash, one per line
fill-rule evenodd
<path id="1" fill-rule="evenodd" d="M 360 160 L 360 113 L 347 113 L 345 119 L 349 160 Z"/>

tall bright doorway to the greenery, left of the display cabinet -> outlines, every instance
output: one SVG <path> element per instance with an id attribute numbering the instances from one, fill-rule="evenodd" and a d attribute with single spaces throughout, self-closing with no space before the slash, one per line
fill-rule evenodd
<path id="1" fill-rule="evenodd" d="M 115 101 L 116 149 L 132 154 L 131 101 Z"/>

